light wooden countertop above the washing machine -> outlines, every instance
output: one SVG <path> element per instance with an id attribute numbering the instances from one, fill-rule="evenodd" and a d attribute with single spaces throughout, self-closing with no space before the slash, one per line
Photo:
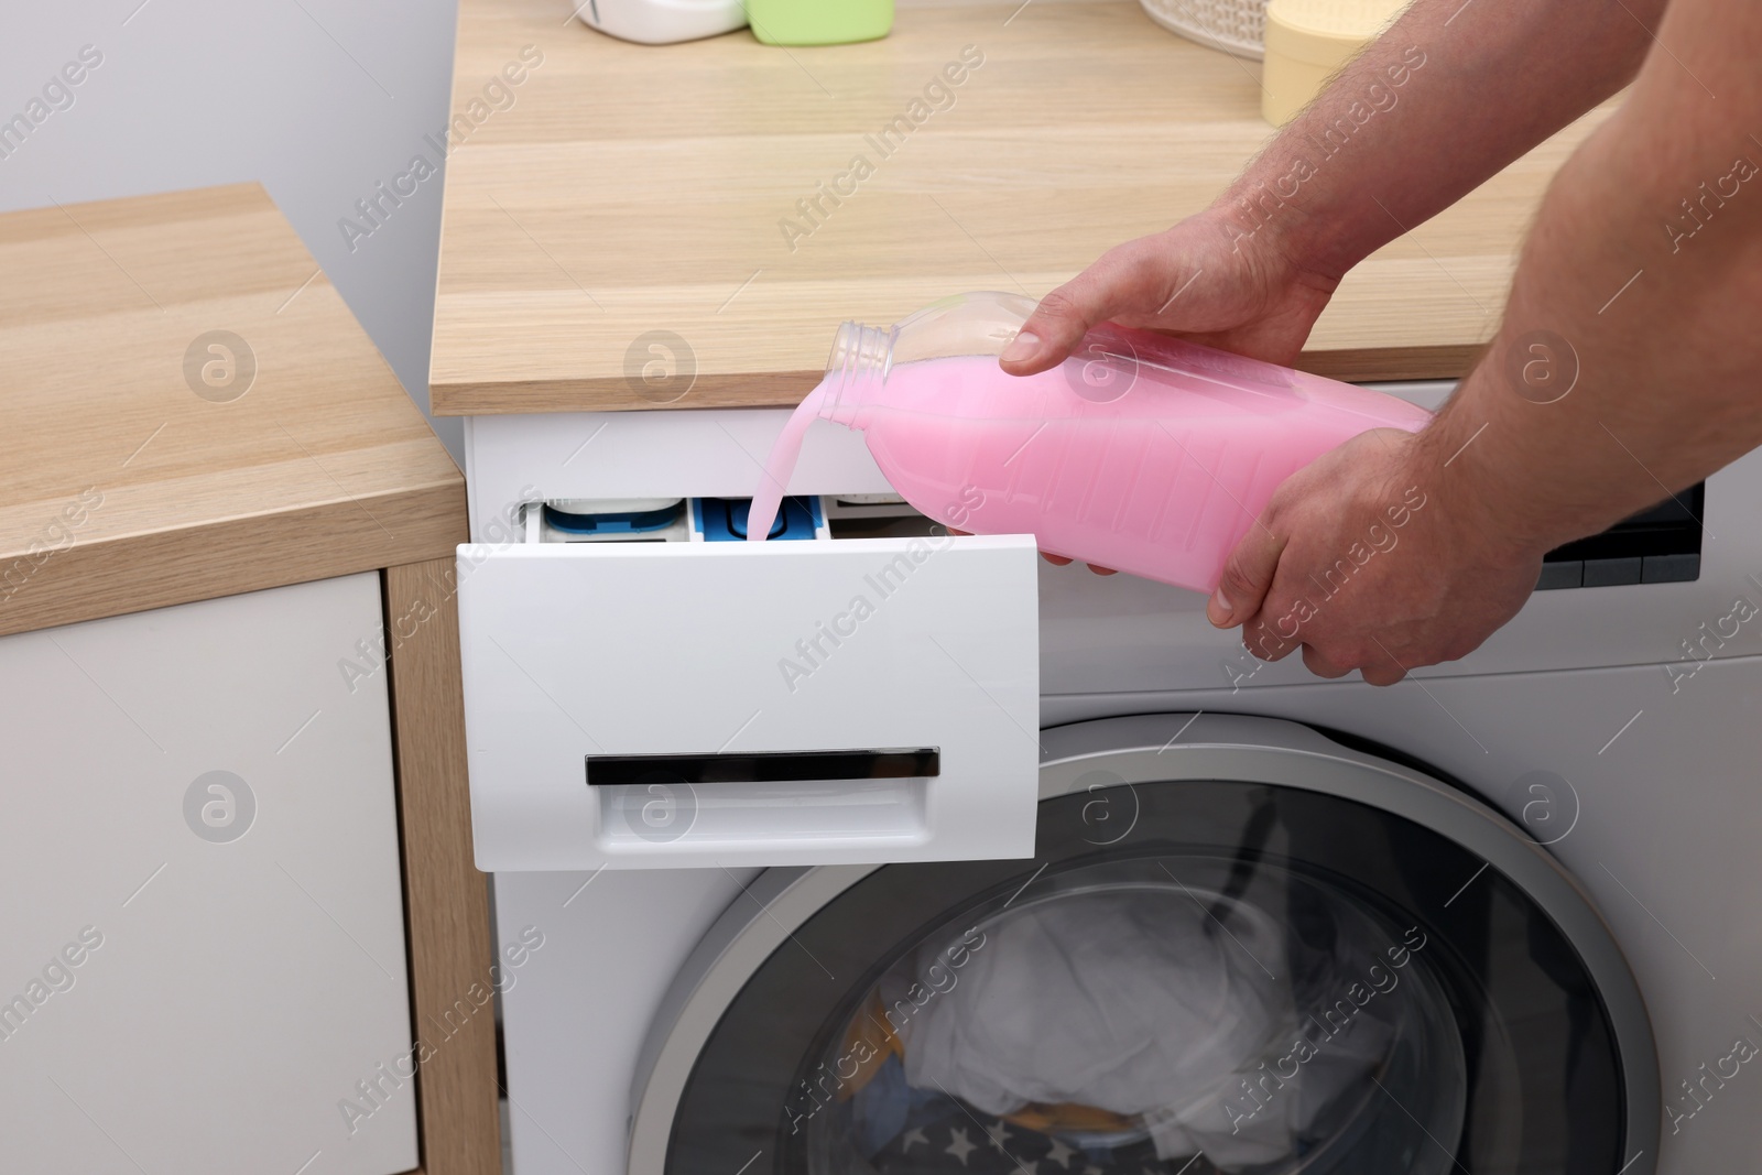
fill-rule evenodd
<path id="1" fill-rule="evenodd" d="M 842 319 L 886 324 L 971 289 L 1045 294 L 1203 208 L 1270 134 L 1256 62 L 1168 33 L 1131 0 L 902 5 L 885 41 L 811 49 L 747 30 L 634 46 L 569 9 L 460 2 L 463 139 L 448 159 L 430 370 L 440 414 L 650 409 L 687 382 L 673 407 L 796 403 Z M 525 46 L 543 62 L 525 67 Z M 883 155 L 874 136 L 964 46 L 983 65 Z M 492 104 L 485 86 L 507 63 L 522 81 L 492 88 Z M 1459 375 L 1496 324 L 1544 187 L 1605 115 L 1360 264 L 1304 366 Z M 796 201 L 856 155 L 872 174 L 803 220 Z M 784 218 L 812 231 L 788 234 Z M 689 356 L 668 368 L 670 340 L 650 331 Z M 627 372 L 647 361 L 694 381 L 643 398 Z"/>

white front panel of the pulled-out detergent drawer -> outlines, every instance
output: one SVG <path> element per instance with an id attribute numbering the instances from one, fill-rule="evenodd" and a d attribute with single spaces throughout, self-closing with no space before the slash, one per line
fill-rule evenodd
<path id="1" fill-rule="evenodd" d="M 458 548 L 483 870 L 1031 856 L 1029 536 Z"/>

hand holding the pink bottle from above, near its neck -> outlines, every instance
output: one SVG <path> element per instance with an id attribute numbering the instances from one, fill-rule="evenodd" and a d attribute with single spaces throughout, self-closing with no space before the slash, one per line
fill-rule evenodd
<path id="1" fill-rule="evenodd" d="M 1096 322 L 1119 322 L 1288 366 L 1339 278 L 1306 271 L 1277 229 L 1247 234 L 1214 208 L 1117 245 L 1047 294 L 999 363 L 1011 375 L 1045 372 Z"/>

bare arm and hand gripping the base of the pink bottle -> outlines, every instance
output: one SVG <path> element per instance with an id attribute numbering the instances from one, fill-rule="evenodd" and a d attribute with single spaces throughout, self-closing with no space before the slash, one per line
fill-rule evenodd
<path id="1" fill-rule="evenodd" d="M 1212 624 L 1387 685 L 1473 652 L 1547 550 L 1762 444 L 1758 37 L 1762 7 L 1670 4 L 1670 49 L 1561 167 L 1480 363 L 1422 433 L 1364 433 L 1288 477 Z M 1538 338 L 1570 363 L 1563 391 L 1529 384 Z"/>

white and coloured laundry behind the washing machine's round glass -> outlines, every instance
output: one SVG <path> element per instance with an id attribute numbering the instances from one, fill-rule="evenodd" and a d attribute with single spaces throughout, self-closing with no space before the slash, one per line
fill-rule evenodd
<path id="1" fill-rule="evenodd" d="M 1364 1134 L 1394 1133 L 1380 1083 L 1410 1080 L 1415 1008 L 1441 992 L 1415 978 L 1348 1001 L 1387 927 L 1329 902 L 1318 951 L 1290 911 L 1182 868 L 1186 884 L 1142 863 L 1078 870 L 895 962 L 811 1066 L 844 1080 L 803 1082 L 784 1108 L 809 1170 L 1346 1175 L 1334 1163 L 1362 1161 Z M 1433 1124 L 1448 1131 L 1447 1101 Z M 1441 1175 L 1448 1154 L 1429 1157 Z"/>

